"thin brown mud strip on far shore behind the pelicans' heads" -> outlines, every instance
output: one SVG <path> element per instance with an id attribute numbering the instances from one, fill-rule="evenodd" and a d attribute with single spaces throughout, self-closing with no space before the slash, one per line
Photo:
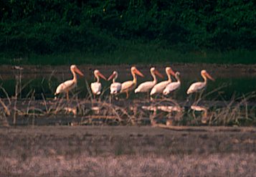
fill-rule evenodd
<path id="1" fill-rule="evenodd" d="M 166 63 L 166 64 L 136 64 L 139 70 L 147 73 L 150 77 L 149 68 L 151 66 L 157 67 L 162 73 L 165 73 L 166 66 L 171 66 L 175 71 L 182 73 L 184 77 L 200 77 L 201 70 L 207 70 L 212 73 L 214 77 L 233 78 L 233 77 L 255 77 L 256 64 L 191 64 L 191 63 Z M 50 66 L 50 65 L 22 65 L 22 77 L 24 79 L 35 79 L 39 77 L 70 77 L 70 66 Z M 100 70 L 103 75 L 110 75 L 113 70 L 118 70 L 119 76 L 130 76 L 131 65 L 92 65 L 81 64 L 78 65 L 80 70 L 84 72 L 85 78 L 93 78 L 93 70 Z M 14 66 L 1 65 L 0 75 L 2 80 L 14 78 L 14 73 L 17 72 Z"/>

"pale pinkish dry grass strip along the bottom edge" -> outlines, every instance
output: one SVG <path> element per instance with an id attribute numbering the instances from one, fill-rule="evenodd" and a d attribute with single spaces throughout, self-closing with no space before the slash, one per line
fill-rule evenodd
<path id="1" fill-rule="evenodd" d="M 254 176 L 255 154 L 209 156 L 37 156 L 5 159 L 1 176 Z M 3 165 L 1 165 L 3 166 Z M 11 170 L 11 171 L 10 171 Z"/>

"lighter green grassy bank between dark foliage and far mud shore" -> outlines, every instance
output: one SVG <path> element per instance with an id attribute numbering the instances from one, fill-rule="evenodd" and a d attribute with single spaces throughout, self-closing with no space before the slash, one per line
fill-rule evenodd
<path id="1" fill-rule="evenodd" d="M 118 41 L 116 41 L 118 42 Z M 15 54 L 1 52 L 1 64 L 165 64 L 180 63 L 218 63 L 255 64 L 256 51 L 234 49 L 228 52 L 214 50 L 190 50 L 181 46 L 174 49 L 159 47 L 163 44 L 141 44 L 120 42 L 114 50 L 100 52 L 73 51 L 53 54 Z"/>

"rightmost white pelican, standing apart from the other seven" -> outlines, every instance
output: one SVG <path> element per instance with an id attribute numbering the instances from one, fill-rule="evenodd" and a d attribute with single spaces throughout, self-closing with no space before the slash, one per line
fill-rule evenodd
<path id="1" fill-rule="evenodd" d="M 214 78 L 212 78 L 212 76 L 210 76 L 206 70 L 202 70 L 201 75 L 204 78 L 204 82 L 195 82 L 195 83 L 191 84 L 189 87 L 189 90 L 186 91 L 186 94 L 189 95 L 190 93 L 199 92 L 201 90 L 204 90 L 204 88 L 207 86 L 207 78 L 209 80 L 214 81 Z"/>

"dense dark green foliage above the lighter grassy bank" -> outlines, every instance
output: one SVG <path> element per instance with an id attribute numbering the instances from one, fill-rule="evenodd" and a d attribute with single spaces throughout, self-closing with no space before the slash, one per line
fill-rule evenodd
<path id="1" fill-rule="evenodd" d="M 256 48 L 256 1 L 1 0 L 0 52 L 110 52 L 122 41 L 183 52 Z"/>

